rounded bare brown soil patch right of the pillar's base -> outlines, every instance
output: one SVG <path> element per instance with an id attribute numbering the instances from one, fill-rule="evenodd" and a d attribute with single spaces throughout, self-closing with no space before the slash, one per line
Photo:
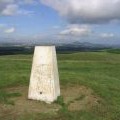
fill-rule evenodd
<path id="1" fill-rule="evenodd" d="M 68 109 L 70 111 L 86 110 L 99 104 L 98 101 L 100 98 L 95 96 L 93 91 L 85 86 L 69 86 L 63 88 L 61 91 L 65 103 L 69 104 Z"/>

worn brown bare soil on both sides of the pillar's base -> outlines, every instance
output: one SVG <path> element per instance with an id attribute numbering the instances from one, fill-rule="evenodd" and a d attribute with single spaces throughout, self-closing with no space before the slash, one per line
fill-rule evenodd
<path id="1" fill-rule="evenodd" d="M 0 104 L 0 120 L 8 120 L 10 116 L 16 119 L 16 117 L 24 114 L 56 114 L 57 111 L 61 108 L 61 106 L 56 103 L 46 104 L 40 101 L 28 100 L 28 87 L 13 87 L 8 88 L 7 91 L 18 92 L 22 95 L 17 98 L 11 98 L 15 101 L 15 105 Z M 85 86 L 62 86 L 61 95 L 64 98 L 64 102 L 68 104 L 68 110 L 70 111 L 86 110 L 99 104 L 97 102 L 99 98 L 93 95 L 93 91 L 89 88 L 86 88 Z"/>

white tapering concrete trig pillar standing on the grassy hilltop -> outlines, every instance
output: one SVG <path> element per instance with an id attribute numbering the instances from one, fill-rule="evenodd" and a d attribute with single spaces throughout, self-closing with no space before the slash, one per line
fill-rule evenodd
<path id="1" fill-rule="evenodd" d="M 60 96 L 55 46 L 36 46 L 28 99 L 51 103 Z"/>

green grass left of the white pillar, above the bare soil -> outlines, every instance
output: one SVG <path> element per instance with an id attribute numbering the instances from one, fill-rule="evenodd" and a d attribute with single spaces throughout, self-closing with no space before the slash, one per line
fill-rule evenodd
<path id="1" fill-rule="evenodd" d="M 31 70 L 30 56 L 0 56 L 0 88 L 28 85 Z"/>

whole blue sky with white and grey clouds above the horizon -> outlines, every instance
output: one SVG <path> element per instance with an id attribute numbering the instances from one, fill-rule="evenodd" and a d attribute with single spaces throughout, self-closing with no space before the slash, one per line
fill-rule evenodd
<path id="1" fill-rule="evenodd" d="M 0 42 L 120 44 L 120 0 L 0 0 Z"/>

